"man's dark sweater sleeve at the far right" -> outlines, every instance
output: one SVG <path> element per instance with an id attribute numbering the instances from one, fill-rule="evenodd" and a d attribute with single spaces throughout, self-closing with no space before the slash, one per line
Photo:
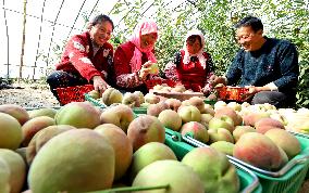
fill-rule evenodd
<path id="1" fill-rule="evenodd" d="M 298 52 L 293 43 L 283 47 L 279 53 L 280 69 L 282 77 L 274 85 L 281 89 L 296 88 L 299 76 Z"/>

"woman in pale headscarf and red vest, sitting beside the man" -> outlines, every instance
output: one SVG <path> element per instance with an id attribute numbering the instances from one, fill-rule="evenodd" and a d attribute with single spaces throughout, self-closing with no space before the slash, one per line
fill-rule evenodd
<path id="1" fill-rule="evenodd" d="M 213 63 L 210 54 L 203 51 L 205 37 L 199 30 L 186 35 L 183 49 L 175 53 L 174 61 L 166 64 L 164 75 L 182 82 L 186 89 L 209 93 L 209 80 L 213 77 Z"/>

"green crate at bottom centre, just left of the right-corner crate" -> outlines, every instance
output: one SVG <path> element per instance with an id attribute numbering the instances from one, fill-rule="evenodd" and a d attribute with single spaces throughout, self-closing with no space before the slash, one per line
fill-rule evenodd
<path id="1" fill-rule="evenodd" d="M 184 142 L 182 140 L 182 136 L 178 132 L 175 132 L 170 129 L 165 129 L 165 144 L 170 146 L 175 155 L 177 156 L 178 160 L 181 160 L 189 151 L 195 149 L 195 146 Z M 231 162 L 231 160 L 230 160 Z M 237 175 L 240 180 L 240 192 L 242 193 L 261 193 L 262 186 L 259 183 L 258 177 L 245 168 L 244 166 L 231 162 L 237 168 Z"/>

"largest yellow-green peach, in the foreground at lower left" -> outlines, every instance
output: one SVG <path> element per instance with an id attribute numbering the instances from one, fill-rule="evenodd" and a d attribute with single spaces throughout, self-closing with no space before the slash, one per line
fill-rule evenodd
<path id="1" fill-rule="evenodd" d="M 104 190 L 112 186 L 113 179 L 114 150 L 90 129 L 72 129 L 52 138 L 28 172 L 34 193 Z"/>

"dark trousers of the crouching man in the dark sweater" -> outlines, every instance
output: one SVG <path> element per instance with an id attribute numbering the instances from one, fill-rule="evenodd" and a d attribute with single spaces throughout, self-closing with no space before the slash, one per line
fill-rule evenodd
<path id="1" fill-rule="evenodd" d="M 294 107 L 296 103 L 296 98 L 277 91 L 261 91 L 256 93 L 251 101 L 251 104 L 263 103 L 272 104 L 275 107 Z"/>

